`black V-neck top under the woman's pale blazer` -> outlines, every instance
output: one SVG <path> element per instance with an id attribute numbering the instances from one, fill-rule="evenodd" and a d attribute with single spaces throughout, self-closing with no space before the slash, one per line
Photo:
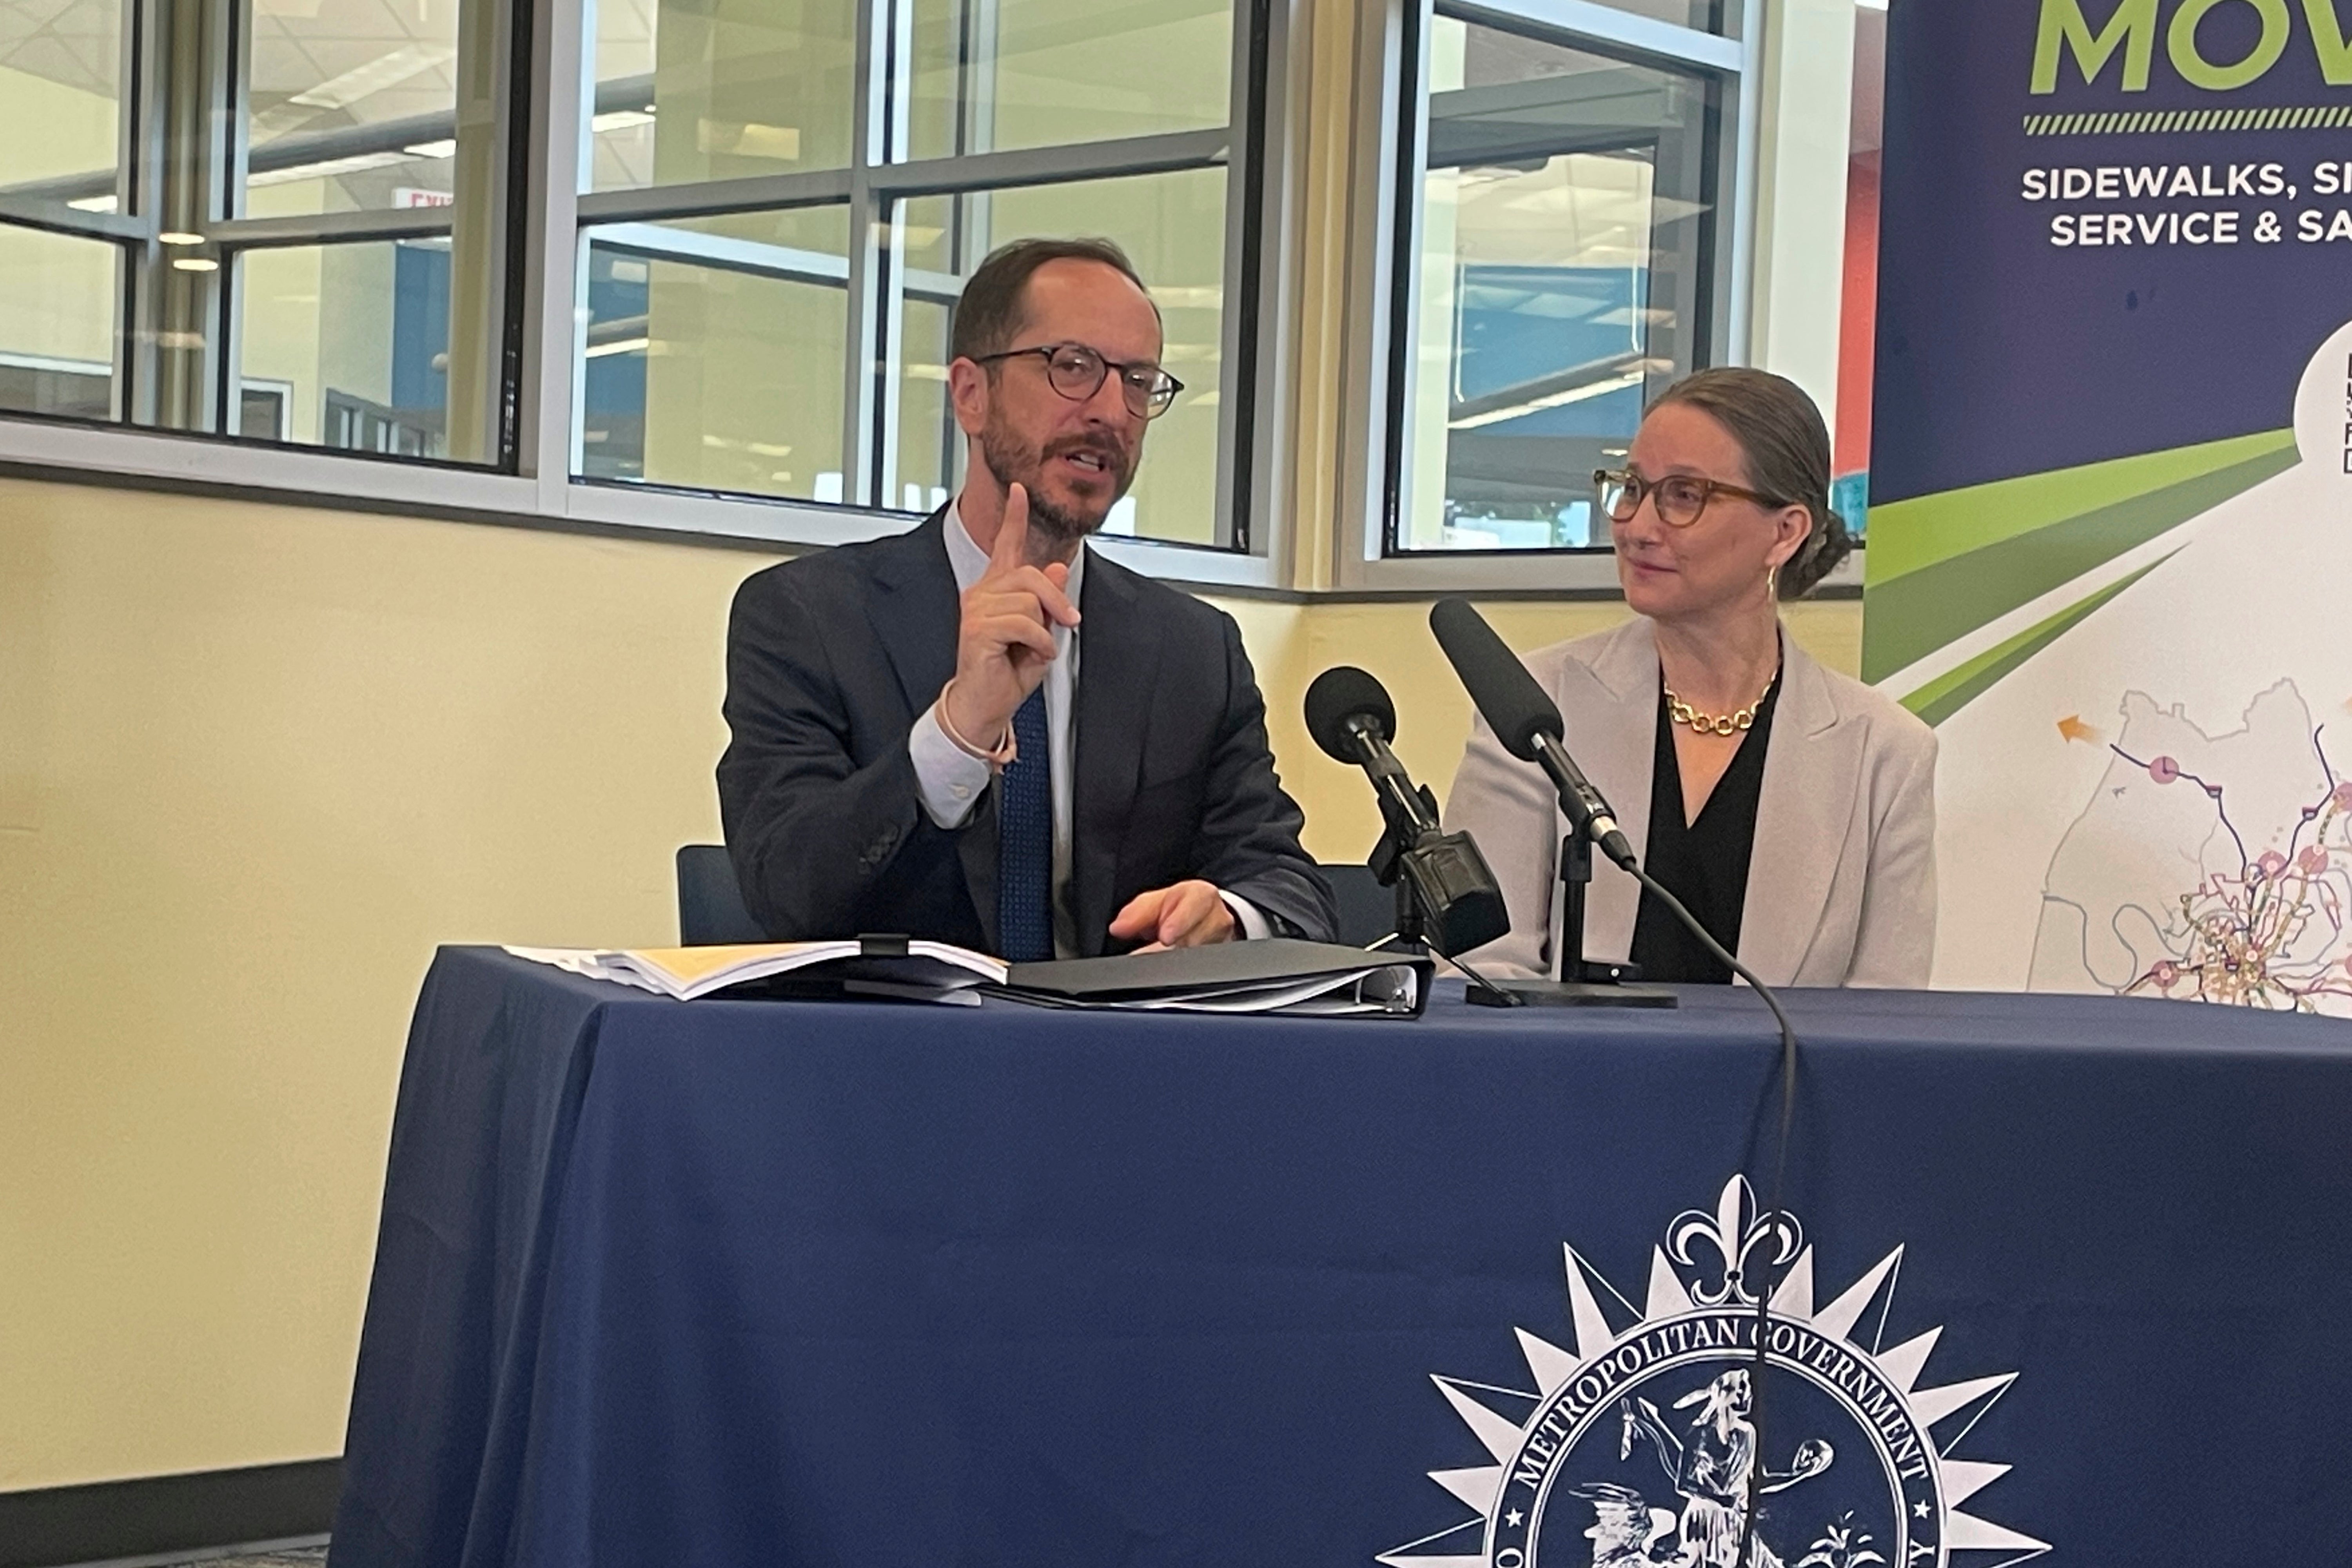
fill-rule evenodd
<path id="1" fill-rule="evenodd" d="M 1658 693 L 1658 750 L 1649 773 L 1649 853 L 1644 867 L 1698 917 L 1729 952 L 1740 950 L 1740 905 L 1748 903 L 1748 858 L 1757 842 L 1757 797 L 1764 792 L 1764 748 L 1771 743 L 1771 710 L 1780 701 L 1780 677 L 1757 705 L 1740 750 L 1715 783 L 1696 823 L 1682 818 L 1682 766 L 1675 762 L 1675 722 Z M 1698 980 L 1729 985 L 1731 969 L 1698 945 L 1658 896 L 1642 889 L 1632 922 L 1632 961 L 1644 980 Z"/>

